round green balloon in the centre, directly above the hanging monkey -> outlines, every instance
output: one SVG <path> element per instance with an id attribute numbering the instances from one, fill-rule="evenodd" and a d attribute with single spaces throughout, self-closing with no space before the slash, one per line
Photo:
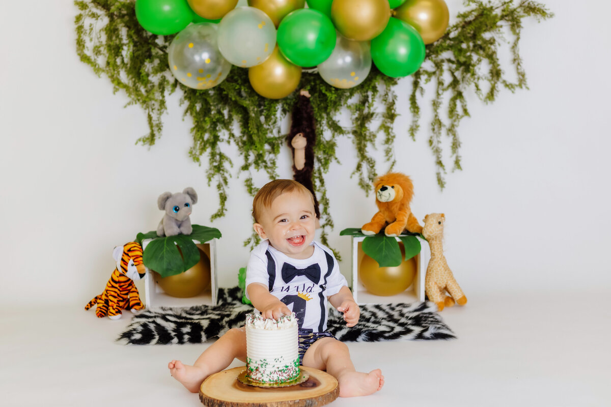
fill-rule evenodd
<path id="1" fill-rule="evenodd" d="M 315 67 L 331 56 L 336 38 L 329 17 L 318 10 L 299 9 L 280 21 L 277 43 L 290 62 L 298 67 Z"/>

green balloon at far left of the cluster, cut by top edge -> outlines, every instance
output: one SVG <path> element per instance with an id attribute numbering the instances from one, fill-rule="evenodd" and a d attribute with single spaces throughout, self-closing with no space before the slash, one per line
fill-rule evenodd
<path id="1" fill-rule="evenodd" d="M 170 35 L 188 26 L 193 12 L 187 0 L 136 0 L 136 19 L 148 32 Z"/>

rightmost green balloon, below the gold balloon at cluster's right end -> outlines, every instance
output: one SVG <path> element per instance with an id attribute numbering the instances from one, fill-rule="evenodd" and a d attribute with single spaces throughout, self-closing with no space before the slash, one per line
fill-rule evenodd
<path id="1" fill-rule="evenodd" d="M 408 76 L 424 62 L 426 49 L 416 29 L 391 17 L 382 34 L 371 40 L 371 59 L 386 76 Z"/>

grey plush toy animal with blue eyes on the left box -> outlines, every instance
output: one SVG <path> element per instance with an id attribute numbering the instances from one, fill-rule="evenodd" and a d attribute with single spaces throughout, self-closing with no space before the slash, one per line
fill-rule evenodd
<path id="1" fill-rule="evenodd" d="M 197 193 L 191 187 L 185 188 L 183 192 L 164 192 L 159 195 L 157 205 L 162 211 L 166 211 L 159 226 L 157 236 L 175 236 L 177 234 L 191 234 L 191 206 L 197 203 Z"/>

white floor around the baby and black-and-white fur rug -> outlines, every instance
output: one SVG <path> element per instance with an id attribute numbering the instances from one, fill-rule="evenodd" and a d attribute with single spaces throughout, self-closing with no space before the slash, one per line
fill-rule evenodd
<path id="1" fill-rule="evenodd" d="M 468 297 L 441 313 L 456 340 L 348 343 L 357 369 L 381 368 L 386 386 L 331 405 L 611 405 L 608 292 Z M 0 405 L 200 406 L 166 366 L 194 361 L 207 345 L 117 344 L 128 323 L 78 304 L 2 310 Z"/>

